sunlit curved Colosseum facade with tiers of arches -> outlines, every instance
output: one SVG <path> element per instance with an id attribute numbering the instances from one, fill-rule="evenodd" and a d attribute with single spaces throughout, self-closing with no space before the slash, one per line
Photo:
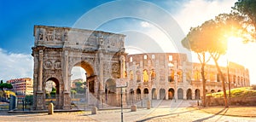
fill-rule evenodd
<path id="1" fill-rule="evenodd" d="M 127 102 L 142 99 L 201 99 L 201 64 L 189 62 L 187 55 L 177 53 L 149 53 L 127 55 L 125 79 L 129 91 Z M 248 70 L 230 62 L 228 68 L 221 67 L 226 90 L 249 86 Z M 205 67 L 207 93 L 221 91 L 222 83 L 214 65 Z M 230 80 L 229 80 L 230 78 Z"/>

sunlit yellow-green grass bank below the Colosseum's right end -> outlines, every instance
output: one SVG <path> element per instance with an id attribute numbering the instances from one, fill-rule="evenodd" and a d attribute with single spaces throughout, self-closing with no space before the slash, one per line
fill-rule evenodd
<path id="1" fill-rule="evenodd" d="M 231 89 L 231 97 L 253 97 L 256 96 L 256 90 L 253 90 L 253 87 L 241 87 L 241 88 L 235 88 Z M 229 90 L 226 90 L 227 96 L 229 96 Z M 215 98 L 223 97 L 224 92 L 216 92 L 216 93 L 210 93 L 207 94 L 207 96 L 213 96 Z"/>

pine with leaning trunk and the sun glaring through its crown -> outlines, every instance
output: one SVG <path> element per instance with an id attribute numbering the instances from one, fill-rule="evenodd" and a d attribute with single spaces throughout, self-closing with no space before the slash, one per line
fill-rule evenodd
<path id="1" fill-rule="evenodd" d="M 209 46 L 209 53 L 222 79 L 225 107 L 229 107 L 225 89 L 226 78 L 224 78 L 224 74 L 218 66 L 218 59 L 226 53 L 230 37 L 245 38 L 243 37 L 244 29 L 242 21 L 243 17 L 237 13 L 220 14 L 209 23 L 207 28 L 208 32 L 212 33 L 208 36 L 209 41 L 212 42 Z"/>

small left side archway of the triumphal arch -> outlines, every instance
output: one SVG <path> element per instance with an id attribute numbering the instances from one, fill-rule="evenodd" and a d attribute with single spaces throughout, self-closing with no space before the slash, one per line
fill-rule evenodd
<path id="1" fill-rule="evenodd" d="M 54 85 L 55 84 L 55 93 L 53 97 L 47 98 L 46 96 L 46 85 L 48 82 L 52 82 Z M 46 108 L 49 104 L 49 102 L 53 102 L 55 105 L 55 109 L 60 109 L 62 106 L 62 103 L 60 101 L 60 90 L 61 90 L 61 85 L 60 82 L 57 78 L 51 77 L 51 78 L 47 78 L 47 80 L 44 82 L 43 84 L 43 91 L 44 91 L 44 98 L 46 97 L 46 99 L 44 99 L 44 108 Z"/>

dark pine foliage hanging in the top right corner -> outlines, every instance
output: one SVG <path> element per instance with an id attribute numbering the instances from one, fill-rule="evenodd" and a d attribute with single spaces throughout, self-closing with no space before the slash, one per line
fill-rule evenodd
<path id="1" fill-rule="evenodd" d="M 232 7 L 232 9 L 244 16 L 245 18 L 245 20 L 243 21 L 243 23 L 245 24 L 244 28 L 247 30 L 247 32 L 249 32 L 249 35 L 252 36 L 252 39 L 255 42 L 256 1 L 255 0 L 238 0 L 235 3 L 235 6 Z M 248 41 L 248 39 L 246 41 Z"/>

